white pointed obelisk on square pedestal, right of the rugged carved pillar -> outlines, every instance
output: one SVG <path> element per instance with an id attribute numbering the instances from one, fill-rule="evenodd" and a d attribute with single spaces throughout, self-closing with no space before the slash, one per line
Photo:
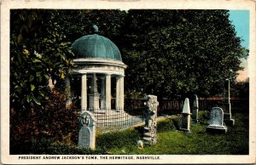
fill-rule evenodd
<path id="1" fill-rule="evenodd" d="M 190 122 L 191 122 L 191 113 L 190 113 L 190 106 L 189 106 L 189 99 L 186 98 L 184 105 L 183 105 L 183 117 L 182 117 L 182 125 L 180 130 L 190 133 Z"/>

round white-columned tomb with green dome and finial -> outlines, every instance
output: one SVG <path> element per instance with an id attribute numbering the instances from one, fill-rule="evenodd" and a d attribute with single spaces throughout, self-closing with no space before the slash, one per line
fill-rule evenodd
<path id="1" fill-rule="evenodd" d="M 126 65 L 119 48 L 93 26 L 91 34 L 77 39 L 72 49 L 75 58 L 66 79 L 67 105 L 80 105 L 81 112 L 123 111 Z"/>

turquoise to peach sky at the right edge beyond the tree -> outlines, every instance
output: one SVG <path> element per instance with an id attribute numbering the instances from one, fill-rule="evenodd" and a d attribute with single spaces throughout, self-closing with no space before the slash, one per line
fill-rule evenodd
<path id="1" fill-rule="evenodd" d="M 241 46 L 249 49 L 249 10 L 230 10 L 230 21 L 235 26 L 236 35 L 243 40 Z M 241 60 L 244 71 L 239 71 L 237 81 L 244 81 L 248 77 L 247 60 Z"/>

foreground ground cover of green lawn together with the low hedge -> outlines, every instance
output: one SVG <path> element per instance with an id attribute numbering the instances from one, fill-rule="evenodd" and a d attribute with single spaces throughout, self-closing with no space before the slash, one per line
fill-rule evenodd
<path id="1" fill-rule="evenodd" d="M 63 143 L 53 139 L 35 139 L 22 154 L 50 155 L 248 155 L 248 114 L 232 115 L 236 123 L 226 134 L 206 132 L 209 112 L 201 111 L 201 123 L 191 124 L 191 133 L 179 128 L 180 116 L 161 118 L 157 122 L 157 143 L 138 149 L 137 140 L 143 135 L 143 126 L 135 128 L 96 128 L 96 150 L 79 148 L 77 143 Z M 106 131 L 108 133 L 106 133 Z M 70 140 L 68 140 L 70 141 Z M 22 145 L 26 148 L 26 145 Z M 21 147 L 21 148 L 22 148 Z M 22 149 L 23 149 L 22 148 Z M 18 154 L 18 153 L 17 153 Z"/>

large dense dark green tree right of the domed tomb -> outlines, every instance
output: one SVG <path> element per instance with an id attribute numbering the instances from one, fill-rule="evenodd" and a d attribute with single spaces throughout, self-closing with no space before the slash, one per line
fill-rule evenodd
<path id="1" fill-rule="evenodd" d="M 125 86 L 163 98 L 220 94 L 247 57 L 227 10 L 129 10 Z"/>

